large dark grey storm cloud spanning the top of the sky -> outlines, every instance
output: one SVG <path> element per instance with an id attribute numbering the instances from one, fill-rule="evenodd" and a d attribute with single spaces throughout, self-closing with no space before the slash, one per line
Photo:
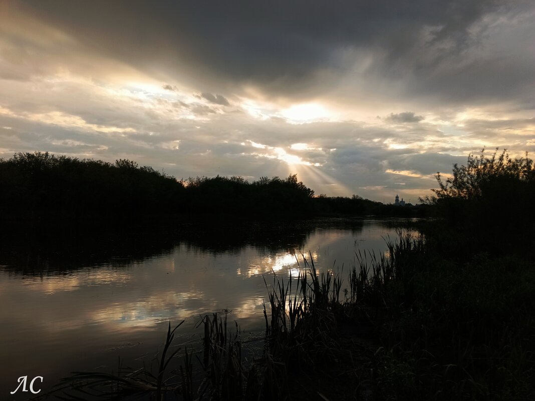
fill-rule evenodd
<path id="1" fill-rule="evenodd" d="M 496 83 L 496 74 L 502 78 L 500 90 L 514 91 L 529 78 L 525 67 L 531 65 L 529 57 L 518 66 L 499 56 L 499 63 L 482 66 L 491 60 L 483 55 L 449 68 L 488 35 L 482 22 L 488 14 L 516 15 L 530 7 L 529 2 L 25 3 L 29 12 L 96 52 L 146 70 L 157 64 L 160 72 L 187 76 L 205 89 L 240 83 L 271 94 L 312 96 L 353 74 L 355 61 L 369 57 L 363 74 L 409 79 L 414 86 L 408 92 L 440 87 L 450 97 L 455 97 L 455 90 L 467 97 L 479 91 L 499 93 L 489 85 Z M 480 77 L 474 80 L 476 71 Z M 170 85 L 165 88 L 172 90 Z M 216 96 L 214 103 L 226 105 L 223 96 Z"/>

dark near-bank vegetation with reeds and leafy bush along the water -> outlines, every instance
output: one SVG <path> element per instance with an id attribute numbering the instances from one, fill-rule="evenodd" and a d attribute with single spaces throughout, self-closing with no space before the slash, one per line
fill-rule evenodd
<path id="1" fill-rule="evenodd" d="M 268 280 L 256 361 L 242 357 L 240 331 L 227 326 L 226 314 L 206 316 L 198 351 L 171 352 L 170 326 L 152 369 L 78 373 L 60 394 L 535 399 L 532 160 L 482 153 L 438 181 L 436 196 L 426 199 L 437 218 L 419 235 L 400 232 L 387 255 L 358 254 L 348 278 L 318 272 L 302 255 L 299 276 Z M 496 198 L 508 199 L 510 213 L 498 211 Z"/>

